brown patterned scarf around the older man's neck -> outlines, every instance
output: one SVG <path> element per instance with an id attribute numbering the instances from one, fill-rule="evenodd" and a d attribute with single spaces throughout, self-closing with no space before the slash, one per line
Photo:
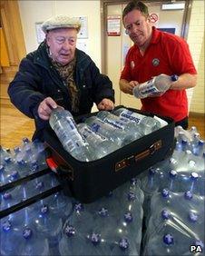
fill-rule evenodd
<path id="1" fill-rule="evenodd" d="M 62 65 L 58 64 L 54 61 L 52 58 L 52 55 L 48 55 L 51 59 L 52 64 L 54 65 L 54 68 L 58 71 L 61 78 L 63 79 L 63 84 L 68 88 L 68 92 L 71 96 L 71 103 L 72 103 L 72 111 L 73 113 L 79 112 L 79 95 L 78 95 L 78 89 L 76 87 L 76 84 L 74 82 L 73 74 L 74 74 L 74 68 L 76 64 L 76 57 L 74 57 L 73 61 L 71 61 L 69 64 Z"/>

